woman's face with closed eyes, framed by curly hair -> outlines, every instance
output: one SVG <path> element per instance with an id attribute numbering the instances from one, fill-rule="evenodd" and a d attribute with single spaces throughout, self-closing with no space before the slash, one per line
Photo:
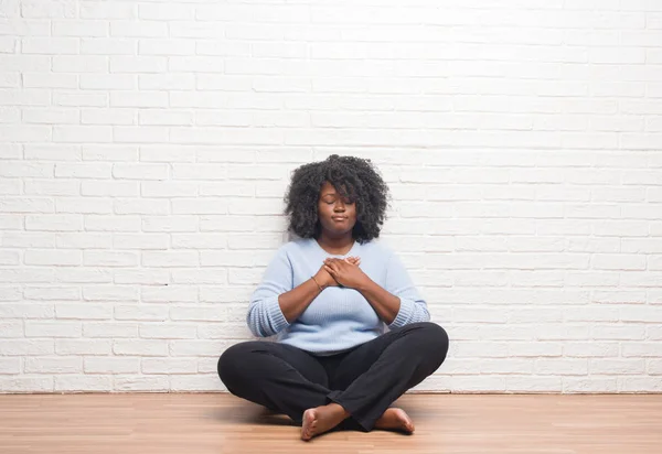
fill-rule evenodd
<path id="1" fill-rule="evenodd" d="M 341 197 L 331 183 L 324 182 L 318 201 L 318 217 L 328 235 L 345 235 L 356 224 L 356 203 Z"/>

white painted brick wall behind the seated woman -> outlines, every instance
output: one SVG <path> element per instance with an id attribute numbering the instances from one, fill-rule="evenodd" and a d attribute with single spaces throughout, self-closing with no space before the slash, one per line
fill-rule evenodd
<path id="1" fill-rule="evenodd" d="M 0 391 L 221 390 L 289 172 L 372 158 L 419 389 L 662 391 L 662 2 L 0 0 Z"/>

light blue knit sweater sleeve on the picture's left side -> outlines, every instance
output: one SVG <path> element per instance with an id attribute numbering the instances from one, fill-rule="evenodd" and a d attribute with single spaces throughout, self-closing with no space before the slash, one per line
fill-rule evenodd
<path id="1" fill-rule="evenodd" d="M 250 296 L 246 322 L 250 332 L 258 337 L 273 336 L 290 325 L 278 304 L 278 296 L 292 290 L 293 285 L 292 264 L 286 246 L 271 259 L 261 282 Z"/>

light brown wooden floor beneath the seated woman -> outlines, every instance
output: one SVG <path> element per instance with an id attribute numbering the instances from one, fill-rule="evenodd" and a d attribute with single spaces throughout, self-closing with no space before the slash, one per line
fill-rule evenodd
<path id="1" fill-rule="evenodd" d="M 229 394 L 0 396 L 0 453 L 660 454 L 662 394 L 407 394 L 412 436 L 331 432 Z"/>

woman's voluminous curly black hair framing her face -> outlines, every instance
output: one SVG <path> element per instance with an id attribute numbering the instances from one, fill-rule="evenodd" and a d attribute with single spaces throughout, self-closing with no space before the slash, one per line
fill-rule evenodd
<path id="1" fill-rule="evenodd" d="M 339 156 L 297 167 L 285 195 L 288 230 L 300 238 L 317 238 L 318 199 L 324 182 L 341 196 L 356 203 L 356 224 L 352 237 L 360 244 L 380 236 L 388 207 L 388 186 L 369 159 Z"/>

